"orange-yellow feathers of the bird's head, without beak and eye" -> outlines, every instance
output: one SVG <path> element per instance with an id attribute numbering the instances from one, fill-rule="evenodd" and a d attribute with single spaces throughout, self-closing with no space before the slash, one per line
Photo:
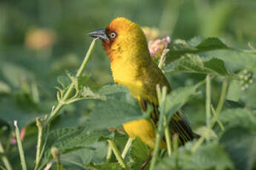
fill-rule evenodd
<path id="1" fill-rule="evenodd" d="M 106 28 L 107 33 L 116 33 L 113 41 L 103 42 L 111 61 L 122 58 L 140 64 L 150 57 L 148 44 L 143 31 L 127 18 L 115 18 Z"/>

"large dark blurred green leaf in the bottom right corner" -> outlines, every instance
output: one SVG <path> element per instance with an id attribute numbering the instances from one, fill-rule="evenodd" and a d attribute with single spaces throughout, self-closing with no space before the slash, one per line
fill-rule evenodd
<path id="1" fill-rule="evenodd" d="M 238 170 L 253 169 L 256 163 L 256 133 L 242 126 L 228 129 L 220 138 Z"/>

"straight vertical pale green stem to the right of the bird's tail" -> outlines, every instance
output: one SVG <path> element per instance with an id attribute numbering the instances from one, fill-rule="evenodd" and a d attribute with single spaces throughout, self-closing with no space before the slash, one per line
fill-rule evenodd
<path id="1" fill-rule="evenodd" d="M 206 75 L 206 126 L 210 126 L 211 120 L 211 78 Z"/>

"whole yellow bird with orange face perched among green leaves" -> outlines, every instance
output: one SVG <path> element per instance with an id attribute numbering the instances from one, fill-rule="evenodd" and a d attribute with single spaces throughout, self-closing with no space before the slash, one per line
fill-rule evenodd
<path id="1" fill-rule="evenodd" d="M 156 136 L 152 123 L 157 126 L 159 118 L 156 86 L 166 86 L 168 92 L 171 92 L 171 86 L 161 69 L 151 59 L 144 33 L 137 24 L 127 18 L 115 18 L 106 29 L 93 31 L 89 35 L 102 40 L 111 61 L 114 82 L 128 86 L 142 110 L 145 111 L 148 105 L 154 107 L 151 122 L 140 119 L 123 124 L 125 132 L 131 138 L 140 137 L 153 149 Z M 181 112 L 174 114 L 169 127 L 171 134 L 179 135 L 181 145 L 194 138 L 194 133 Z M 161 148 L 164 147 L 163 140 Z"/>

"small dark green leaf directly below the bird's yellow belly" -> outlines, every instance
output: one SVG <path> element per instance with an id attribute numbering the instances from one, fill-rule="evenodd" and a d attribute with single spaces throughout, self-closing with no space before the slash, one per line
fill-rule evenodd
<path id="1" fill-rule="evenodd" d="M 131 145 L 131 169 L 140 169 L 142 164 L 145 163 L 149 156 L 150 149 L 148 146 L 146 146 L 139 137 L 136 137 Z"/>

